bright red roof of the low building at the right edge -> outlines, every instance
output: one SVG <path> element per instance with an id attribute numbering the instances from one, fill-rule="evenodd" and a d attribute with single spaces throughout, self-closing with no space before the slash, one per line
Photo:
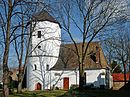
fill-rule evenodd
<path id="1" fill-rule="evenodd" d="M 122 73 L 114 73 L 112 74 L 112 77 L 113 77 L 113 81 L 124 81 L 124 74 Z M 126 74 L 126 80 L 129 81 L 129 77 L 130 77 L 130 74 Z"/>

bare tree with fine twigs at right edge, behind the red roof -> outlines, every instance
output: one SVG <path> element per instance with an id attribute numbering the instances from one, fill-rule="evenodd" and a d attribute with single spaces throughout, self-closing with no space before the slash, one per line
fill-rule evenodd
<path id="1" fill-rule="evenodd" d="M 109 63 L 111 64 L 112 60 L 117 60 L 118 65 L 121 65 L 124 72 L 125 83 L 126 73 L 130 65 L 130 34 L 128 27 L 128 25 L 125 27 L 122 24 L 118 27 L 118 31 L 115 31 L 115 34 L 112 34 L 111 37 L 103 42 L 104 47 L 106 47 L 104 50 L 106 50 Z"/>

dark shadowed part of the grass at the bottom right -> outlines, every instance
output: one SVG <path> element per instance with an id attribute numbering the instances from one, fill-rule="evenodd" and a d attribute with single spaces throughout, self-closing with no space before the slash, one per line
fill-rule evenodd
<path id="1" fill-rule="evenodd" d="M 128 91 L 108 89 L 73 89 L 58 97 L 130 97 Z"/>

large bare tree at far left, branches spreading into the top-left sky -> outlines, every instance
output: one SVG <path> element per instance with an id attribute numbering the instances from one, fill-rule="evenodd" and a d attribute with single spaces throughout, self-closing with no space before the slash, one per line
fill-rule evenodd
<path id="1" fill-rule="evenodd" d="M 41 11 L 43 6 L 38 6 L 38 4 L 44 4 L 39 2 L 27 2 L 25 0 L 1 0 L 0 2 L 0 27 L 2 34 L 2 43 L 4 45 L 3 54 L 3 94 L 4 97 L 9 95 L 9 66 L 8 58 L 9 51 L 12 42 L 21 37 L 21 47 L 22 49 L 17 52 L 19 61 L 19 75 L 21 75 L 21 67 L 23 62 L 24 53 L 24 35 L 26 26 L 30 21 L 31 16 L 38 11 Z M 44 4 L 45 5 L 45 4 Z M 45 5 L 46 6 L 46 5 Z M 21 30 L 21 33 L 20 33 Z M 27 31 L 27 30 L 26 30 Z M 27 33 L 26 33 L 27 35 Z M 18 41 L 20 43 L 20 41 Z M 19 54 L 19 55 L 18 55 Z M 27 60 L 27 55 L 25 55 L 25 64 Z M 22 76 L 21 76 L 22 77 Z M 21 84 L 22 78 L 19 76 L 19 81 Z M 21 85 L 20 85 L 21 87 Z"/>

